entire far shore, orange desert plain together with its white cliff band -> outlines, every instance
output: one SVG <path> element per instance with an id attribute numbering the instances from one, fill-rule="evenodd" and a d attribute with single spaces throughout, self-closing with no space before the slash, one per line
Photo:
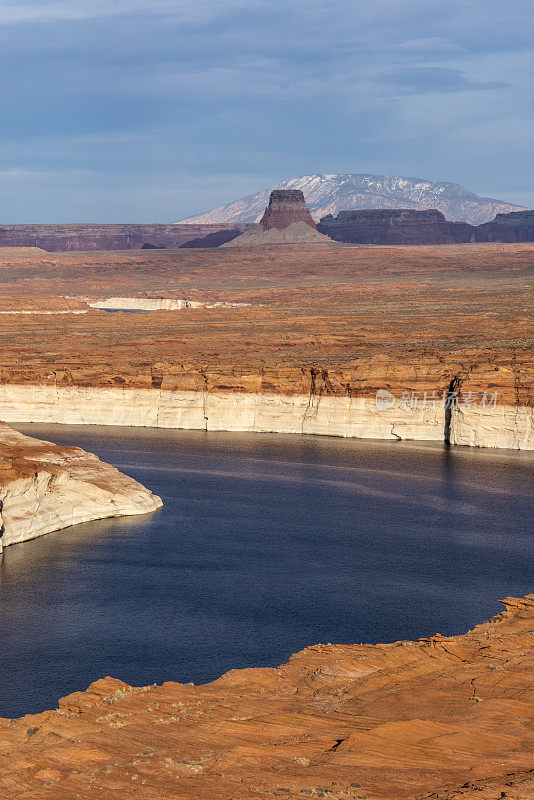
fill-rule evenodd
<path id="1" fill-rule="evenodd" d="M 63 292 L 181 309 L 0 315 L 0 419 L 531 447 L 533 253 L 278 245 L 0 258 L 0 308 Z M 391 395 L 380 408 L 379 391 Z"/>

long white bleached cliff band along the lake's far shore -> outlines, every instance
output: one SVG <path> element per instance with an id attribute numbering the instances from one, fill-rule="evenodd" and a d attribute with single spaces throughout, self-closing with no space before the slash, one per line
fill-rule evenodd
<path id="1" fill-rule="evenodd" d="M 375 398 L 269 393 L 169 391 L 77 386 L 0 386 L 8 422 L 128 425 L 209 431 L 319 434 L 534 449 L 534 410 L 498 405 L 451 411 L 386 408 Z"/>

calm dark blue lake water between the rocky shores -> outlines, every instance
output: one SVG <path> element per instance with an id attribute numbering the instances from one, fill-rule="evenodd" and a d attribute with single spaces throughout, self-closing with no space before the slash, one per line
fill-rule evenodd
<path id="1" fill-rule="evenodd" d="M 533 589 L 528 454 L 16 427 L 92 450 L 165 506 L 6 548 L 3 717 L 104 675 L 200 683 L 317 642 L 459 633 Z"/>

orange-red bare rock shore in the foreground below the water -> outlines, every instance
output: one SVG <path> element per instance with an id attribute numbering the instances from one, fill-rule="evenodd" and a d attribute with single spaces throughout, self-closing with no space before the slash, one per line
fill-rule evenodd
<path id="1" fill-rule="evenodd" d="M 463 636 L 307 647 L 202 686 L 104 678 L 0 720 L 2 800 L 532 800 L 534 595 Z"/>

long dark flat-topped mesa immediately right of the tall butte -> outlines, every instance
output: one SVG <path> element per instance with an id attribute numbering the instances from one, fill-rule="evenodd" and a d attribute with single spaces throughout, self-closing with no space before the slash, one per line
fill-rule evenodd
<path id="1" fill-rule="evenodd" d="M 317 230 L 338 242 L 358 244 L 455 244 L 474 240 L 466 222 L 448 222 L 436 209 L 378 209 L 329 214 Z"/>

